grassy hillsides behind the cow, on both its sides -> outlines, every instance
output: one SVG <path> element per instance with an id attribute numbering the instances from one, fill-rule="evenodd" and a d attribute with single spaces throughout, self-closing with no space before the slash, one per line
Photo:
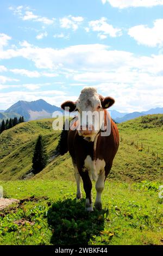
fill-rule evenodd
<path id="1" fill-rule="evenodd" d="M 149 115 L 118 124 L 120 148 L 108 179 L 162 180 L 163 115 Z M 70 155 L 55 157 L 59 132 L 52 129 L 53 119 L 19 124 L 0 135 L 0 179 L 22 179 L 32 168 L 36 138 L 43 136 L 48 164 L 33 179 L 74 180 Z"/>

